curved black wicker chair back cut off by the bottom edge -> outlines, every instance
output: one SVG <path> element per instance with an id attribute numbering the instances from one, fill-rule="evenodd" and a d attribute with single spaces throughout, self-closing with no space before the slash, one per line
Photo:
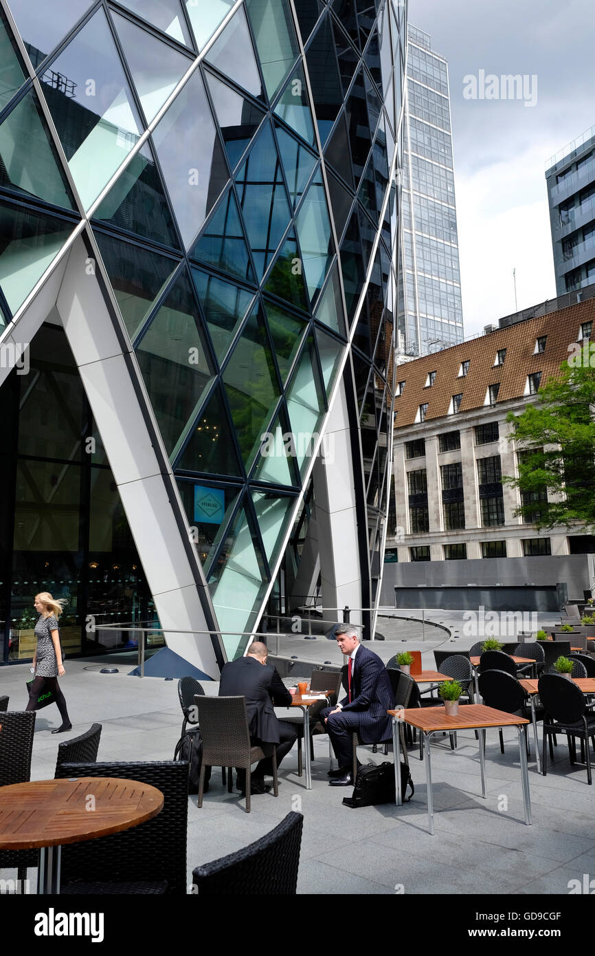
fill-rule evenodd
<path id="1" fill-rule="evenodd" d="M 266 836 L 193 870 L 199 896 L 295 896 L 302 814 L 287 814 Z"/>

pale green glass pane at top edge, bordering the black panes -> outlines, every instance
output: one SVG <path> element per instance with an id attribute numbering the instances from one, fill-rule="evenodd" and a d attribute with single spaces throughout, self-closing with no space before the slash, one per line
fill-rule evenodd
<path id="1" fill-rule="evenodd" d="M 298 47 L 287 0 L 245 0 L 268 98 L 272 99 L 295 63 Z"/>

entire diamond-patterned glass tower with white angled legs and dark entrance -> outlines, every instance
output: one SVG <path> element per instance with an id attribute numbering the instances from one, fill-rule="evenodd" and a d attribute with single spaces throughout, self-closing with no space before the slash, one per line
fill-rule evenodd
<path id="1" fill-rule="evenodd" d="M 406 6 L 0 12 L 0 660 L 40 590 L 210 676 L 314 591 L 369 636 Z"/>

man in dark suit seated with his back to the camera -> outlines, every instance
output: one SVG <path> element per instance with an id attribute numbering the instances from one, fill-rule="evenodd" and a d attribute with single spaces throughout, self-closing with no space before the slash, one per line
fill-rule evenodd
<path id="1" fill-rule="evenodd" d="M 273 710 L 273 704 L 282 707 L 291 706 L 292 697 L 279 677 L 277 669 L 272 664 L 266 663 L 267 656 L 266 644 L 253 641 L 245 657 L 226 663 L 221 673 L 219 696 L 242 695 L 245 697 L 252 746 L 276 744 L 279 767 L 295 744 L 297 733 L 287 721 L 278 720 Z M 261 760 L 251 776 L 251 793 L 267 793 L 270 788 L 265 786 L 265 774 L 272 776 L 272 772 L 272 757 Z M 245 792 L 245 771 L 243 770 L 238 770 L 238 787 Z"/>

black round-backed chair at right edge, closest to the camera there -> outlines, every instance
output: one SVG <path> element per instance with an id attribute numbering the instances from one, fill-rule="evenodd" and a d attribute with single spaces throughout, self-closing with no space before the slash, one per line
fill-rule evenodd
<path id="1" fill-rule="evenodd" d="M 547 738 L 549 738 L 550 757 L 553 760 L 552 737 L 557 733 L 565 733 L 568 738 L 568 753 L 571 765 L 576 762 L 574 738 L 578 737 L 584 747 L 586 781 L 591 786 L 589 738 L 595 747 L 595 714 L 587 709 L 583 691 L 561 674 L 543 674 L 538 684 L 538 692 L 545 711 L 543 716 L 543 776 L 547 773 Z"/>

